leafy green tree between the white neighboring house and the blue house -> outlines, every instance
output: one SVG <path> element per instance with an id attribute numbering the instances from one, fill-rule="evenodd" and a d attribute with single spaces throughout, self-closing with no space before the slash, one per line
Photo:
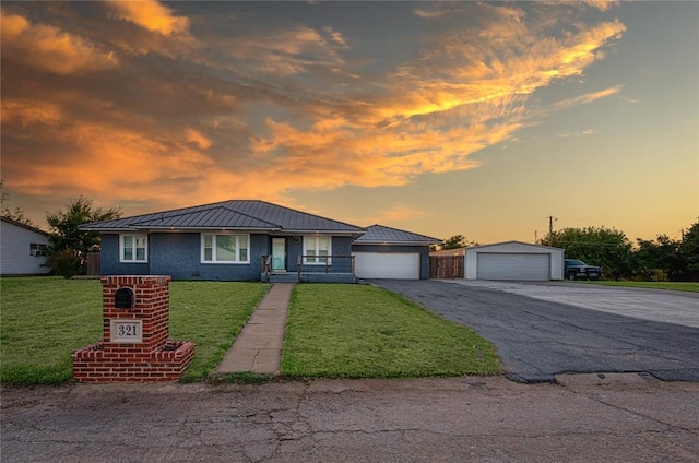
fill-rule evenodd
<path id="1" fill-rule="evenodd" d="M 46 213 L 50 227 L 48 247 L 49 265 L 59 275 L 70 277 L 83 270 L 87 251 L 99 246 L 99 234 L 83 232 L 78 227 L 88 222 L 110 221 L 121 217 L 121 210 L 103 210 L 93 206 L 92 200 L 80 197 L 64 210 Z M 72 274 L 71 274 L 72 273 Z"/>

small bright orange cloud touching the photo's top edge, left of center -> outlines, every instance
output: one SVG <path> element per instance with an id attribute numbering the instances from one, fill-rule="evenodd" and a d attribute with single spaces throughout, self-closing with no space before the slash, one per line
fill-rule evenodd
<path id="1" fill-rule="evenodd" d="M 117 17 L 130 21 L 162 35 L 182 33 L 189 27 L 187 17 L 175 16 L 170 9 L 163 7 L 157 1 L 110 0 L 108 3 L 116 12 Z"/>

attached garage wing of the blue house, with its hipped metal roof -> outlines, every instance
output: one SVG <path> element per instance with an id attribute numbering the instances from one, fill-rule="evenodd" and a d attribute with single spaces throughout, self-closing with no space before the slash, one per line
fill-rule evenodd
<path id="1" fill-rule="evenodd" d="M 429 278 L 429 245 L 440 239 L 371 225 L 352 244 L 359 278 Z"/>

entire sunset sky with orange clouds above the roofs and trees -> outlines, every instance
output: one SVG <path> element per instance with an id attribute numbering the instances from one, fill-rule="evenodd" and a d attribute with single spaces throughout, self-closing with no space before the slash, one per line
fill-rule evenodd
<path id="1" fill-rule="evenodd" d="M 1 3 L 10 207 L 259 199 L 479 244 L 699 217 L 699 2 Z"/>

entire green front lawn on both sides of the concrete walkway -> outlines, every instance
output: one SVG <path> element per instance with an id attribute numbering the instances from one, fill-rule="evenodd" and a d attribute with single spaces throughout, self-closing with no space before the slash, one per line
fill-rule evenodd
<path id="1" fill-rule="evenodd" d="M 170 335 L 197 343 L 185 381 L 221 361 L 268 289 L 262 283 L 173 282 Z M 102 340 L 98 280 L 0 278 L 0 382 L 55 384 L 71 352 Z M 499 372 L 491 344 L 387 290 L 296 285 L 282 359 L 292 377 L 392 378 Z"/>

